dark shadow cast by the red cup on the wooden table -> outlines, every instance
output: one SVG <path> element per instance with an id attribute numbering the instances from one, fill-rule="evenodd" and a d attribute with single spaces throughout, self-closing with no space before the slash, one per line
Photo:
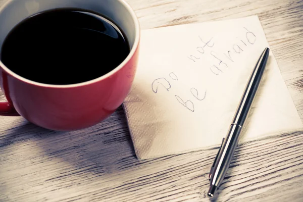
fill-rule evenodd
<path id="1" fill-rule="evenodd" d="M 0 139 L 0 149 L 26 145 L 33 152 L 40 151 L 34 156 L 39 161 L 59 159 L 70 170 L 94 174 L 115 173 L 123 169 L 123 162 L 137 161 L 121 107 L 105 121 L 73 132 L 47 130 L 21 119 L 12 124 L 18 126 L 4 131 L 8 135 Z"/>

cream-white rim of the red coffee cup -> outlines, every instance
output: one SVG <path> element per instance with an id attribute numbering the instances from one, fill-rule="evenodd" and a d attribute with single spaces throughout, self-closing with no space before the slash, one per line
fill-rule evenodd
<path id="1" fill-rule="evenodd" d="M 9 0 L 8 2 L 6 2 L 1 8 L 0 8 L 0 12 L 11 2 L 13 2 L 15 0 Z M 120 71 L 130 60 L 131 58 L 134 56 L 135 52 L 137 51 L 137 48 L 139 46 L 139 39 L 140 39 L 140 24 L 139 24 L 139 20 L 134 12 L 134 10 L 131 8 L 131 6 L 125 1 L 125 0 L 116 0 L 118 2 L 120 2 L 121 4 L 123 4 L 125 6 L 125 8 L 128 10 L 128 12 L 131 15 L 131 18 L 135 24 L 135 41 L 134 44 L 128 54 L 128 56 L 124 59 L 124 61 L 118 65 L 115 69 L 113 69 L 112 71 L 108 72 L 107 74 L 104 74 L 100 77 L 97 77 L 95 79 L 89 80 L 89 81 L 85 81 L 85 82 L 81 82 L 81 83 L 75 83 L 75 84 L 65 84 L 65 85 L 56 85 L 56 84 L 46 84 L 46 83 L 40 83 L 40 82 L 36 82 L 36 81 L 32 81 L 29 80 L 27 78 L 24 78 L 16 73 L 14 73 L 12 70 L 10 70 L 8 67 L 6 67 L 2 61 L 0 60 L 0 68 L 2 68 L 3 70 L 5 70 L 6 73 L 10 74 L 11 76 L 25 82 L 28 84 L 32 84 L 32 85 L 36 85 L 36 86 L 41 86 L 41 87 L 50 87 L 50 88 L 73 88 L 73 87 L 79 87 L 79 86 L 85 86 L 85 85 L 89 85 L 89 84 L 93 84 L 96 83 L 98 81 L 102 81 L 105 80 L 109 77 L 111 77 L 112 75 L 114 75 L 116 72 Z"/>

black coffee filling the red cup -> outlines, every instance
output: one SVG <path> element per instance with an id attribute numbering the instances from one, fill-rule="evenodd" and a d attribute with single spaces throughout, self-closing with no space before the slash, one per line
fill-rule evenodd
<path id="1" fill-rule="evenodd" d="M 75 84 L 120 65 L 130 47 L 106 18 L 81 10 L 52 10 L 19 23 L 5 39 L 2 62 L 16 74 L 46 84 Z"/>

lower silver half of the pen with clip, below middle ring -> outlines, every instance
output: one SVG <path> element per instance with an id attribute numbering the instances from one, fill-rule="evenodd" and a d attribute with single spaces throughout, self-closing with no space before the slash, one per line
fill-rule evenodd
<path id="1" fill-rule="evenodd" d="M 212 175 L 211 184 L 219 187 L 224 176 L 229 168 L 233 154 L 238 144 L 238 137 L 241 133 L 241 126 L 230 125 L 229 131 L 225 140 L 221 145 L 220 152 L 218 154 L 218 161 L 215 164 L 215 172 Z"/>

